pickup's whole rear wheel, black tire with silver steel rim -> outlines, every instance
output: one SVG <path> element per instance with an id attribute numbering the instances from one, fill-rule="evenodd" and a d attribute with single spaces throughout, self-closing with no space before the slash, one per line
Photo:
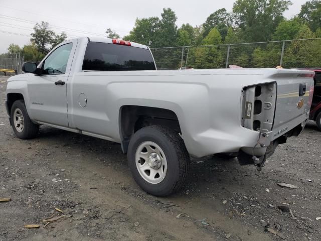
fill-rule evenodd
<path id="1" fill-rule="evenodd" d="M 190 156 L 174 130 L 148 126 L 131 137 L 128 166 L 141 189 L 154 196 L 168 196 L 185 182 Z"/>

